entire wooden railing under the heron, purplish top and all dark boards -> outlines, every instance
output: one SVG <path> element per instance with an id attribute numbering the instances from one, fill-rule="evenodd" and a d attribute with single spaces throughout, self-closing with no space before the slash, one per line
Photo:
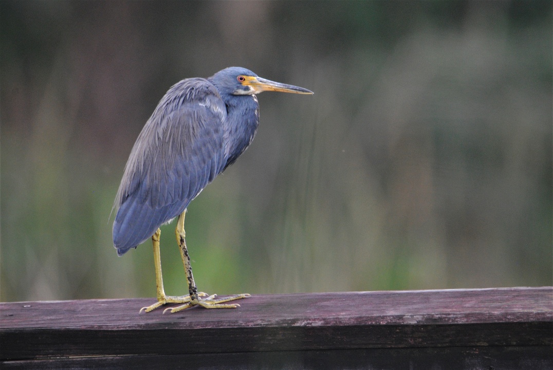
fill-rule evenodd
<path id="1" fill-rule="evenodd" d="M 553 369 L 553 288 L 253 295 L 139 314 L 153 299 L 0 304 L 0 367 Z"/>

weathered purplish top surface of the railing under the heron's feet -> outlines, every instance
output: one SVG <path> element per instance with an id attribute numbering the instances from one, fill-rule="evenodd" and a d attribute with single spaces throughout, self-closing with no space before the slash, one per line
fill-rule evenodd
<path id="1" fill-rule="evenodd" d="M 138 314 L 155 298 L 0 303 L 0 330 L 113 326 L 205 329 L 243 326 L 477 324 L 551 319 L 553 287 L 253 295 L 236 310 Z M 170 305 L 168 305 L 170 306 Z M 173 305 L 175 306 L 175 305 Z"/>

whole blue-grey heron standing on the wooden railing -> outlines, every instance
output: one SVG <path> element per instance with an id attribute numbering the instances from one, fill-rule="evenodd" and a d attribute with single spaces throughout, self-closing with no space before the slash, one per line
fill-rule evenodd
<path id="1" fill-rule="evenodd" d="M 140 312 L 169 303 L 180 305 L 164 313 L 192 306 L 236 308 L 238 304 L 227 302 L 250 296 L 217 298 L 216 294 L 197 290 L 186 248 L 184 218 L 190 202 L 252 142 L 259 126 L 256 94 L 263 91 L 313 93 L 263 79 L 242 67 L 228 67 L 207 79 L 190 78 L 173 85 L 140 132 L 113 205 L 113 246 L 119 256 L 152 238 L 157 302 Z M 166 295 L 161 274 L 160 226 L 175 218 L 189 293 L 183 296 Z"/>

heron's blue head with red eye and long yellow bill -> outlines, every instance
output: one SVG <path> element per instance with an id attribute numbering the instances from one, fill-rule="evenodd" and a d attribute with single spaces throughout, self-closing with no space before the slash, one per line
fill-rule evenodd
<path id="1" fill-rule="evenodd" d="M 242 67 L 228 67 L 218 71 L 210 80 L 222 93 L 229 95 L 254 95 L 263 91 L 291 92 L 296 94 L 312 94 L 303 87 L 281 84 L 265 80 L 254 72 Z"/>

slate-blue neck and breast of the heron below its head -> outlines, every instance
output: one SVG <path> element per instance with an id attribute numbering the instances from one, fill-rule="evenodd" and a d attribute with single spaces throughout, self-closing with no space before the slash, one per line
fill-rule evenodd
<path id="1" fill-rule="evenodd" d="M 225 152 L 227 164 L 232 163 L 248 148 L 259 126 L 259 104 L 255 95 L 223 97 L 227 106 Z"/>

